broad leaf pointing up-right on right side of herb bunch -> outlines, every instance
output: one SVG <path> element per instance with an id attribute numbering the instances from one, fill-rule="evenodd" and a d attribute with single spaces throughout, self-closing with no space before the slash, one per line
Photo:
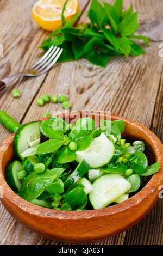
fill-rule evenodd
<path id="1" fill-rule="evenodd" d="M 132 35 L 135 33 L 137 29 L 137 12 L 134 14 L 128 15 L 122 22 L 120 23 L 118 31 L 121 36 Z"/>

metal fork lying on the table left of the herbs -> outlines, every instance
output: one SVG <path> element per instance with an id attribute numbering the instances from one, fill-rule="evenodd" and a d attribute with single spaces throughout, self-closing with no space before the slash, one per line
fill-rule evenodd
<path id="1" fill-rule="evenodd" d="M 10 83 L 17 77 L 20 76 L 30 76 L 36 77 L 45 74 L 52 66 L 57 62 L 60 57 L 63 49 L 59 47 L 51 46 L 49 50 L 40 58 L 30 69 L 23 70 L 22 72 L 3 78 L 0 80 L 0 92 L 7 87 L 7 84 Z"/>

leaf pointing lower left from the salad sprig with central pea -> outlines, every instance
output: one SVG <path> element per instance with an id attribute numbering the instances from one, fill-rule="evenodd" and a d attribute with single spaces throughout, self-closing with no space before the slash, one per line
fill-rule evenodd
<path id="1" fill-rule="evenodd" d="M 65 142 L 60 139 L 50 139 L 49 141 L 43 142 L 37 148 L 37 155 L 47 154 L 59 149 Z"/>

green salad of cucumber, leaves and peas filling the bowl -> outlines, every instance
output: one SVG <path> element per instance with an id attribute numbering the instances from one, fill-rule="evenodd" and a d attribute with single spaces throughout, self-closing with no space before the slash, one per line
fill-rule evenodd
<path id="1" fill-rule="evenodd" d="M 67 124 L 59 117 L 22 125 L 14 137 L 15 161 L 5 170 L 12 190 L 45 208 L 84 211 L 106 208 L 133 196 L 156 173 L 145 143 L 122 138 L 123 120 L 90 117 Z"/>

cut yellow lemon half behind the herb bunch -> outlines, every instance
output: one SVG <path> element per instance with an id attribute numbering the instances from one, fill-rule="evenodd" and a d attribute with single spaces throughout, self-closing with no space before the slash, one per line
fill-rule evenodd
<path id="1" fill-rule="evenodd" d="M 39 0 L 34 4 L 32 15 L 37 24 L 48 31 L 62 27 L 61 13 L 66 0 Z M 65 20 L 72 19 L 79 13 L 77 0 L 69 0 L 64 12 Z"/>

